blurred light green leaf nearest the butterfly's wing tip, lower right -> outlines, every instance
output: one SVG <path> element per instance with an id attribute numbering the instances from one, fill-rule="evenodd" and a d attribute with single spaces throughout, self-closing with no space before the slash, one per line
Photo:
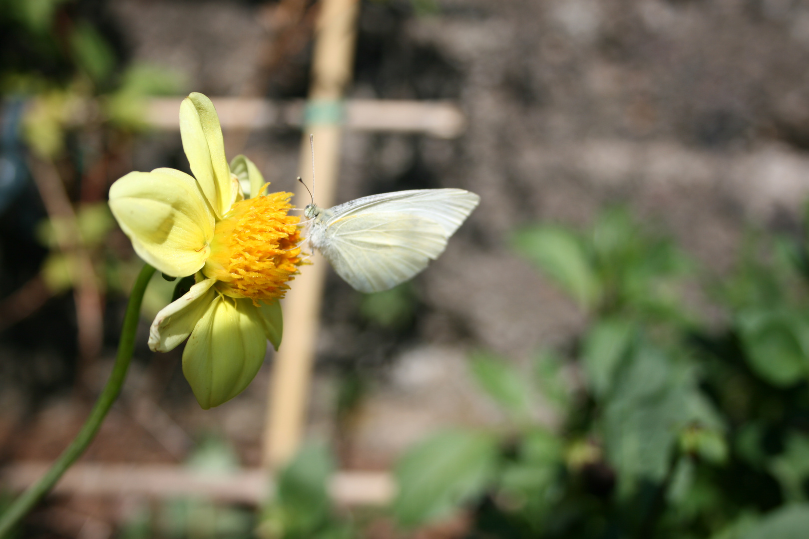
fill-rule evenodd
<path id="1" fill-rule="evenodd" d="M 570 230 L 535 226 L 515 234 L 514 246 L 580 305 L 597 303 L 599 281 L 582 242 Z"/>

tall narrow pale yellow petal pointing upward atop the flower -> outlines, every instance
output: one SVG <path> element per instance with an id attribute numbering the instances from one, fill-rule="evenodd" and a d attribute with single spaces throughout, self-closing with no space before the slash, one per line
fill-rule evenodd
<path id="1" fill-rule="evenodd" d="M 214 103 L 193 92 L 180 104 L 180 137 L 185 157 L 218 217 L 233 204 L 231 171 Z"/>

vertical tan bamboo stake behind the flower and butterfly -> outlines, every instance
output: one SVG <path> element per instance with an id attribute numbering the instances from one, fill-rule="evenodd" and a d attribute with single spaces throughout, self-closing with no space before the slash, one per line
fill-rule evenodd
<path id="1" fill-rule="evenodd" d="M 312 84 L 301 141 L 300 171 L 311 185 L 309 135 L 316 144 L 317 203 L 332 205 L 340 165 L 343 92 L 351 79 L 358 0 L 323 0 L 315 31 Z M 299 186 L 296 203 L 307 204 Z M 264 463 L 273 469 L 297 451 L 306 423 L 320 319 L 325 261 L 312 257 L 284 301 L 284 339 L 275 356 L 265 429 Z"/>

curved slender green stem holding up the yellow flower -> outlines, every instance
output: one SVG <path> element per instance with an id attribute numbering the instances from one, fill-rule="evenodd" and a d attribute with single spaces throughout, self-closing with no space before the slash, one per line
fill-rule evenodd
<path id="1" fill-rule="evenodd" d="M 104 390 L 90 412 L 90 417 L 87 418 L 82 430 L 78 432 L 70 445 L 53 462 L 48 472 L 39 481 L 29 486 L 18 499 L 15 499 L 11 507 L 0 516 L 0 537 L 6 537 L 12 528 L 32 510 L 36 503 L 49 493 L 59 481 L 61 475 L 70 468 L 70 465 L 84 453 L 87 445 L 90 444 L 95 437 L 95 433 L 101 427 L 101 423 L 112 407 L 112 403 L 121 393 L 121 385 L 124 385 L 126 371 L 129 369 L 129 360 L 132 359 L 135 348 L 135 332 L 138 330 L 138 318 L 140 318 L 143 293 L 146 292 L 146 285 L 149 284 L 153 273 L 155 273 L 155 268 L 146 264 L 138 275 L 138 280 L 135 281 L 132 294 L 129 296 L 129 304 L 126 305 L 124 327 L 121 331 L 121 341 L 118 343 L 115 366 L 112 368 L 112 374 L 107 381 L 107 385 L 104 386 Z"/>

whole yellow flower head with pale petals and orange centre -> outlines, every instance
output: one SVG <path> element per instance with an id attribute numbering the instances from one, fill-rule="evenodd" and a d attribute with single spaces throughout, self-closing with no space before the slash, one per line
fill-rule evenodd
<path id="1" fill-rule="evenodd" d="M 268 184 L 244 155 L 228 166 L 205 95 L 180 105 L 180 134 L 194 177 L 171 168 L 130 172 L 110 187 L 109 206 L 146 263 L 196 280 L 158 313 L 149 347 L 168 352 L 188 338 L 183 373 L 207 409 L 247 387 L 268 339 L 276 349 L 281 343 L 278 299 L 302 262 L 299 217 L 286 214 L 291 193 L 262 194 Z"/>

